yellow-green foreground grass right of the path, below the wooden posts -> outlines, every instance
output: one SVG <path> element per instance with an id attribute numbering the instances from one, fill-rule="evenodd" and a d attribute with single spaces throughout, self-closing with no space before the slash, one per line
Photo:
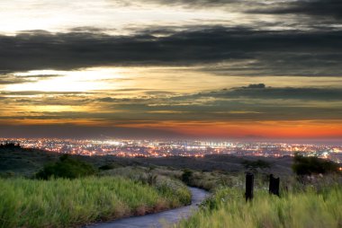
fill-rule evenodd
<path id="1" fill-rule="evenodd" d="M 269 196 L 257 190 L 246 203 L 240 189 L 220 189 L 202 210 L 178 227 L 342 227 L 342 187 L 329 187 Z"/>

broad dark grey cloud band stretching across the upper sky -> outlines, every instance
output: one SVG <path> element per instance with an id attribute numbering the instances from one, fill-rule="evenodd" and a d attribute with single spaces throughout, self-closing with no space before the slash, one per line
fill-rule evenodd
<path id="1" fill-rule="evenodd" d="M 342 31 L 255 31 L 242 27 L 197 28 L 166 37 L 148 32 L 131 36 L 26 32 L 0 36 L 0 70 L 191 66 L 254 60 L 250 69 L 255 75 L 267 70 L 269 75 L 281 75 L 288 69 L 293 75 L 341 75 L 341 39 Z M 240 66 L 236 70 L 242 74 L 246 69 Z"/>

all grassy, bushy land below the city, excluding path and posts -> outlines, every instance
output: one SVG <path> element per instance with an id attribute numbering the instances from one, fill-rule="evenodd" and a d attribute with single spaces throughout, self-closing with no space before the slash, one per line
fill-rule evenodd
<path id="1" fill-rule="evenodd" d="M 342 177 L 329 175 L 338 171 L 335 163 L 318 158 L 59 157 L 12 147 L 1 152 L 0 176 L 8 179 L 0 179 L 0 227 L 66 227 L 183 206 L 191 201 L 184 183 L 213 195 L 179 227 L 342 227 Z M 291 168 L 298 175 L 324 175 L 295 178 Z M 248 204 L 246 169 L 256 173 L 255 198 Z M 17 178 L 37 171 L 34 177 L 43 180 Z M 269 173 L 281 178 L 281 197 L 268 194 Z"/>

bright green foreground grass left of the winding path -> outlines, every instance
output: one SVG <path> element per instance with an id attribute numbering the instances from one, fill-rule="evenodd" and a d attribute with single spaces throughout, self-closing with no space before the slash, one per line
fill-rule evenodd
<path id="1" fill-rule="evenodd" d="M 157 189 L 121 177 L 0 179 L 0 227 L 68 227 L 144 215 L 190 201 L 184 189 Z"/>

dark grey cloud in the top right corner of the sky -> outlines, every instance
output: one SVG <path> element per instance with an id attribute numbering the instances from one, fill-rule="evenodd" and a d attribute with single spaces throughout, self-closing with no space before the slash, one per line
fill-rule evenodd
<path id="1" fill-rule="evenodd" d="M 334 17 L 342 19 L 342 1 L 340 0 L 299 0 L 265 4 L 263 8 L 250 11 L 250 13 L 302 13 L 312 16 Z"/>

